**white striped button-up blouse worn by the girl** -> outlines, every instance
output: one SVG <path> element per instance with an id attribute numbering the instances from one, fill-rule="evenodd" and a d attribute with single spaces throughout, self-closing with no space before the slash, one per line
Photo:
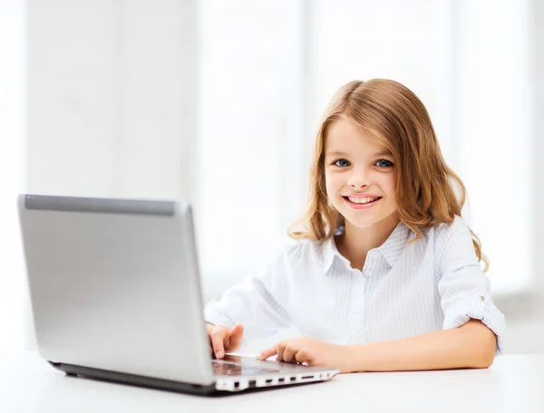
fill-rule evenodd
<path id="1" fill-rule="evenodd" d="M 505 320 L 490 280 L 460 216 L 423 232 L 400 222 L 385 243 L 368 252 L 363 271 L 325 243 L 289 240 L 264 271 L 230 287 L 205 308 L 214 324 L 244 325 L 251 336 L 294 326 L 335 344 L 403 339 L 481 320 L 503 346 Z"/>

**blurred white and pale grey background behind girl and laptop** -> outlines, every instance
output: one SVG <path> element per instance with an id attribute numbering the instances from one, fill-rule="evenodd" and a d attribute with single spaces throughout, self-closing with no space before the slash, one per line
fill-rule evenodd
<path id="1" fill-rule="evenodd" d="M 34 348 L 18 192 L 184 198 L 205 300 L 304 210 L 334 91 L 426 105 L 491 260 L 506 352 L 544 351 L 544 2 L 0 0 L 0 348 Z"/>

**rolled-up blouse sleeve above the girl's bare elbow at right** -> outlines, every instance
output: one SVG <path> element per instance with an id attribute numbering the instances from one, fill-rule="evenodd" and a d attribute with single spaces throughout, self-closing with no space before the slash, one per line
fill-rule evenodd
<path id="1" fill-rule="evenodd" d="M 444 329 L 454 329 L 471 318 L 481 320 L 497 336 L 497 350 L 503 348 L 504 315 L 493 303 L 490 279 L 483 273 L 474 252 L 472 236 L 464 220 L 456 216 L 451 235 L 440 258 L 438 290 L 444 312 Z"/>

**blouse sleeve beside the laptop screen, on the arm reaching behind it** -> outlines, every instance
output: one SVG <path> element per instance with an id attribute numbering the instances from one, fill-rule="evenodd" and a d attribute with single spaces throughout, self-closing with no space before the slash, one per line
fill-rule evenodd
<path id="1" fill-rule="evenodd" d="M 287 298 L 287 265 L 296 245 L 282 246 L 271 262 L 255 274 L 211 300 L 204 309 L 207 322 L 226 325 L 242 324 L 252 338 L 264 337 L 291 324 L 284 308 Z"/>

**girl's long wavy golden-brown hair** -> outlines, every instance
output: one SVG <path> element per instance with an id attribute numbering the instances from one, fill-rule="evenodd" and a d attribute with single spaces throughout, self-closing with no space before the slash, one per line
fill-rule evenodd
<path id="1" fill-rule="evenodd" d="M 403 223 L 415 234 L 461 216 L 466 189 L 446 165 L 429 113 L 423 102 L 399 82 L 373 79 L 353 81 L 336 91 L 317 132 L 310 174 L 306 214 L 289 228 L 295 239 L 324 241 L 344 224 L 344 216 L 332 206 L 325 189 L 325 141 L 330 125 L 348 118 L 377 139 L 393 154 L 397 166 L 396 202 Z M 303 231 L 296 227 L 303 226 Z M 480 238 L 471 230 L 476 256 L 489 269 Z"/>

